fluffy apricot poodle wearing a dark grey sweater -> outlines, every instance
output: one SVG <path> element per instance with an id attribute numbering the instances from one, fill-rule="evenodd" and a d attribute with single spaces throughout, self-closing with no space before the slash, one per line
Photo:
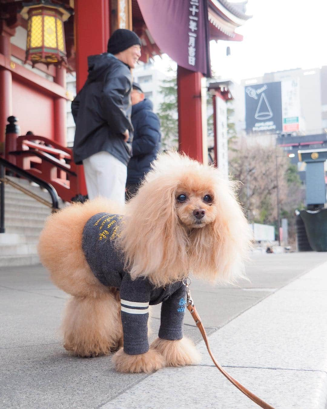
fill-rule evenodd
<path id="1" fill-rule="evenodd" d="M 124 373 L 198 362 L 182 333 L 182 281 L 242 276 L 251 234 L 235 188 L 218 169 L 169 153 L 125 207 L 97 199 L 50 216 L 38 250 L 53 282 L 73 296 L 64 347 L 83 357 L 118 350 Z M 157 303 L 159 337 L 149 348 L 148 306 Z"/>

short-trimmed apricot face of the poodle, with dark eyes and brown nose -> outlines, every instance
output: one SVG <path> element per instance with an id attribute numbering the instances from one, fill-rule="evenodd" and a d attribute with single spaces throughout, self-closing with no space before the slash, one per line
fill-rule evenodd
<path id="1" fill-rule="evenodd" d="M 175 208 L 180 222 L 188 229 L 201 229 L 217 217 L 215 193 L 206 180 L 185 177 L 175 192 Z"/>

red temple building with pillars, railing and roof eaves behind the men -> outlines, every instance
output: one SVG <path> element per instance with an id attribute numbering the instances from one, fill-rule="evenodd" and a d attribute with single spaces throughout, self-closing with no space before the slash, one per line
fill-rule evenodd
<path id="1" fill-rule="evenodd" d="M 67 58 L 70 68 L 76 71 L 77 90 L 87 77 L 87 56 L 105 52 L 111 32 L 118 27 L 134 29 L 139 34 L 143 43 L 143 61 L 161 53 L 146 27 L 137 0 L 52 1 L 65 4 L 74 12 L 64 27 Z M 25 4 L 29 2 L 31 0 L 24 1 Z M 47 182 L 56 185 L 59 196 L 70 200 L 75 193 L 85 194 L 86 190 L 81 176 L 82 166 L 74 165 L 71 151 L 65 147 L 66 103 L 69 100 L 66 70 L 51 65 L 47 68 L 44 64 L 36 64 L 33 69 L 29 69 L 31 64 L 23 65 L 24 45 L 15 41 L 19 37 L 17 33 L 21 34 L 27 28 L 26 20 L 20 16 L 22 3 L 14 0 L 1 2 L 0 151 L 4 153 L 7 118 L 15 115 L 22 134 L 31 130 L 34 135 L 42 135 L 17 139 L 14 150 L 21 153 L 17 153 L 16 163 L 39 177 L 42 175 Z M 245 3 L 236 6 L 226 0 L 208 0 L 211 39 L 242 40 L 242 36 L 235 34 L 235 29 L 249 18 L 244 12 Z M 185 0 L 185 4 L 189 7 L 188 1 Z M 201 78 L 199 72 L 178 67 L 179 147 L 199 161 L 207 156 L 203 153 L 202 143 Z M 46 149 L 44 144 L 34 144 L 31 139 L 51 145 L 52 149 Z M 12 143 L 15 145 L 11 141 L 7 146 Z"/>

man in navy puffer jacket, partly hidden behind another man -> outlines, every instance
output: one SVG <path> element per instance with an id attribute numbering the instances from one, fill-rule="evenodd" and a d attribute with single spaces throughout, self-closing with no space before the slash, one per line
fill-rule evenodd
<path id="1" fill-rule="evenodd" d="M 159 118 L 153 112 L 152 102 L 144 98 L 137 83 L 133 83 L 131 99 L 134 139 L 132 157 L 127 166 L 126 200 L 139 189 L 141 180 L 159 152 L 161 140 Z"/>

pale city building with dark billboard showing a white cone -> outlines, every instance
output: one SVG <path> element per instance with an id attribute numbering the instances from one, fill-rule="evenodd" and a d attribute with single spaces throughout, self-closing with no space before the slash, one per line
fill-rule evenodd
<path id="1" fill-rule="evenodd" d="M 235 109 L 244 122 L 237 134 L 282 147 L 305 183 L 306 164 L 298 152 L 327 147 L 327 66 L 270 72 L 242 80 L 241 87 Z"/>

